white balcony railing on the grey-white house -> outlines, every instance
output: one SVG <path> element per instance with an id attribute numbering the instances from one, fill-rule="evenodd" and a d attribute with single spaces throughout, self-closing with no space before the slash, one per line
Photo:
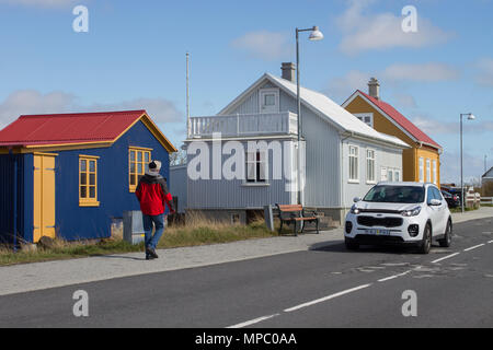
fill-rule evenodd
<path id="1" fill-rule="evenodd" d="M 190 138 L 297 135 L 298 117 L 290 112 L 192 117 Z"/>

